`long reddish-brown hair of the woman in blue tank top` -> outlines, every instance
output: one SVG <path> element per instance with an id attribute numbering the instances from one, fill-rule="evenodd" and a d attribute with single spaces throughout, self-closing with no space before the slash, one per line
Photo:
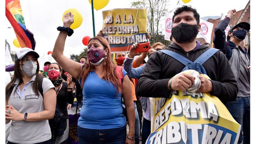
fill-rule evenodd
<path id="1" fill-rule="evenodd" d="M 107 58 L 103 60 L 104 66 L 103 66 L 102 79 L 112 82 L 113 85 L 116 87 L 117 93 L 118 92 L 122 93 L 121 84 L 118 80 L 118 77 L 115 71 L 115 64 L 111 59 L 111 50 L 110 50 L 110 45 L 108 44 L 108 41 L 105 38 L 100 36 L 95 36 L 91 38 L 88 43 L 90 43 L 91 40 L 100 41 L 100 43 L 104 46 L 104 50 L 108 49 Z M 81 88 L 83 88 L 84 81 L 88 76 L 89 72 L 93 72 L 94 70 L 95 70 L 95 66 L 92 65 L 90 61 L 87 59 L 87 62 L 84 64 L 84 68 L 82 69 L 80 74 Z"/>

